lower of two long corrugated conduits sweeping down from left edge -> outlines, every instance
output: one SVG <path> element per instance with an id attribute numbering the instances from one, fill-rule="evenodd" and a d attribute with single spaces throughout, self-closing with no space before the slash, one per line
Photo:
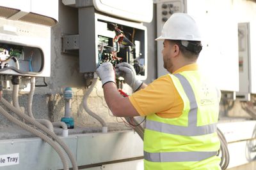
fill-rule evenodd
<path id="1" fill-rule="evenodd" d="M 35 134 L 36 136 L 38 136 L 39 138 L 43 139 L 44 141 L 46 141 L 47 143 L 49 143 L 49 145 L 52 146 L 52 148 L 54 148 L 54 150 L 56 150 L 56 152 L 58 153 L 58 155 L 60 155 L 61 158 L 61 162 L 63 164 L 63 169 L 64 170 L 68 170 L 68 160 L 66 158 L 65 153 L 63 152 L 63 150 L 60 148 L 60 146 L 58 146 L 54 141 L 52 141 L 51 138 L 49 138 L 48 136 L 46 136 L 45 134 L 43 134 L 42 132 L 33 129 L 33 127 L 30 127 L 29 125 L 26 125 L 25 123 L 21 122 L 20 120 L 18 120 L 17 118 L 13 117 L 12 115 L 10 115 L 7 111 L 5 111 L 1 106 L 0 106 L 0 113 L 6 117 L 8 120 L 10 120 L 11 122 L 13 122 L 16 125 L 19 125 L 19 127 L 21 127 L 22 129 L 25 129 L 28 132 L 31 132 L 33 134 Z"/>

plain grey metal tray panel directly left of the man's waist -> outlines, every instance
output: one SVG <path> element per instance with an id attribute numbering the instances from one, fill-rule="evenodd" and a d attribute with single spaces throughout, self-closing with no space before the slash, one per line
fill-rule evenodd
<path id="1" fill-rule="evenodd" d="M 77 164 L 95 164 L 143 156 L 143 141 L 134 132 L 85 134 L 78 137 Z"/>

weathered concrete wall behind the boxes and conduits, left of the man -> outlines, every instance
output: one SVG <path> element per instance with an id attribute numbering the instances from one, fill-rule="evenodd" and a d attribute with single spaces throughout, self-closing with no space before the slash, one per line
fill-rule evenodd
<path id="1" fill-rule="evenodd" d="M 145 83 L 150 83 L 156 78 L 156 20 L 145 24 L 148 29 L 148 78 Z M 72 116 L 75 125 L 79 127 L 100 127 L 99 122 L 90 117 L 83 109 L 83 96 L 86 92 L 86 81 L 84 75 L 79 73 L 79 56 L 62 53 L 62 40 L 64 35 L 78 34 L 78 11 L 77 8 L 65 6 L 59 3 L 59 20 L 51 29 L 51 77 L 45 78 L 47 87 L 36 87 L 33 99 L 33 114 L 35 118 L 46 118 L 51 122 L 60 121 L 64 116 L 65 101 L 63 90 L 65 87 L 72 87 L 74 93 L 72 99 Z M 36 84 L 42 84 L 42 78 L 36 78 Z M 125 86 L 126 92 L 131 92 Z M 12 93 L 4 92 L 4 97 L 12 101 Z M 26 107 L 27 95 L 20 94 L 20 106 Z M 126 128 L 120 118 L 111 117 L 104 101 L 100 81 L 97 82 L 92 94 L 88 98 L 88 106 L 95 113 L 99 114 L 110 127 L 118 129 Z M 0 115 L 0 127 L 12 127 L 12 124 Z"/>

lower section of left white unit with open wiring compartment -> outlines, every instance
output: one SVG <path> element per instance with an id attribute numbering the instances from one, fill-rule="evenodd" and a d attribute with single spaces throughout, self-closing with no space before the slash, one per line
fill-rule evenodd
<path id="1" fill-rule="evenodd" d="M 4 18 L 0 27 L 0 74 L 50 76 L 50 27 Z"/>

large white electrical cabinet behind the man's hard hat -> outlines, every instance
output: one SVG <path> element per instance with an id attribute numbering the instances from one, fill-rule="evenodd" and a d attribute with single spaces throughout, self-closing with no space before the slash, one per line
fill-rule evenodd
<path id="1" fill-rule="evenodd" d="M 234 20 L 231 1 L 159 0 L 157 3 L 157 36 L 164 22 L 172 13 L 185 12 L 195 18 L 202 33 L 203 49 L 198 64 L 218 88 L 225 91 L 239 90 L 237 22 Z M 163 68 L 161 50 L 163 42 L 157 42 L 157 74 L 167 72 Z"/>

